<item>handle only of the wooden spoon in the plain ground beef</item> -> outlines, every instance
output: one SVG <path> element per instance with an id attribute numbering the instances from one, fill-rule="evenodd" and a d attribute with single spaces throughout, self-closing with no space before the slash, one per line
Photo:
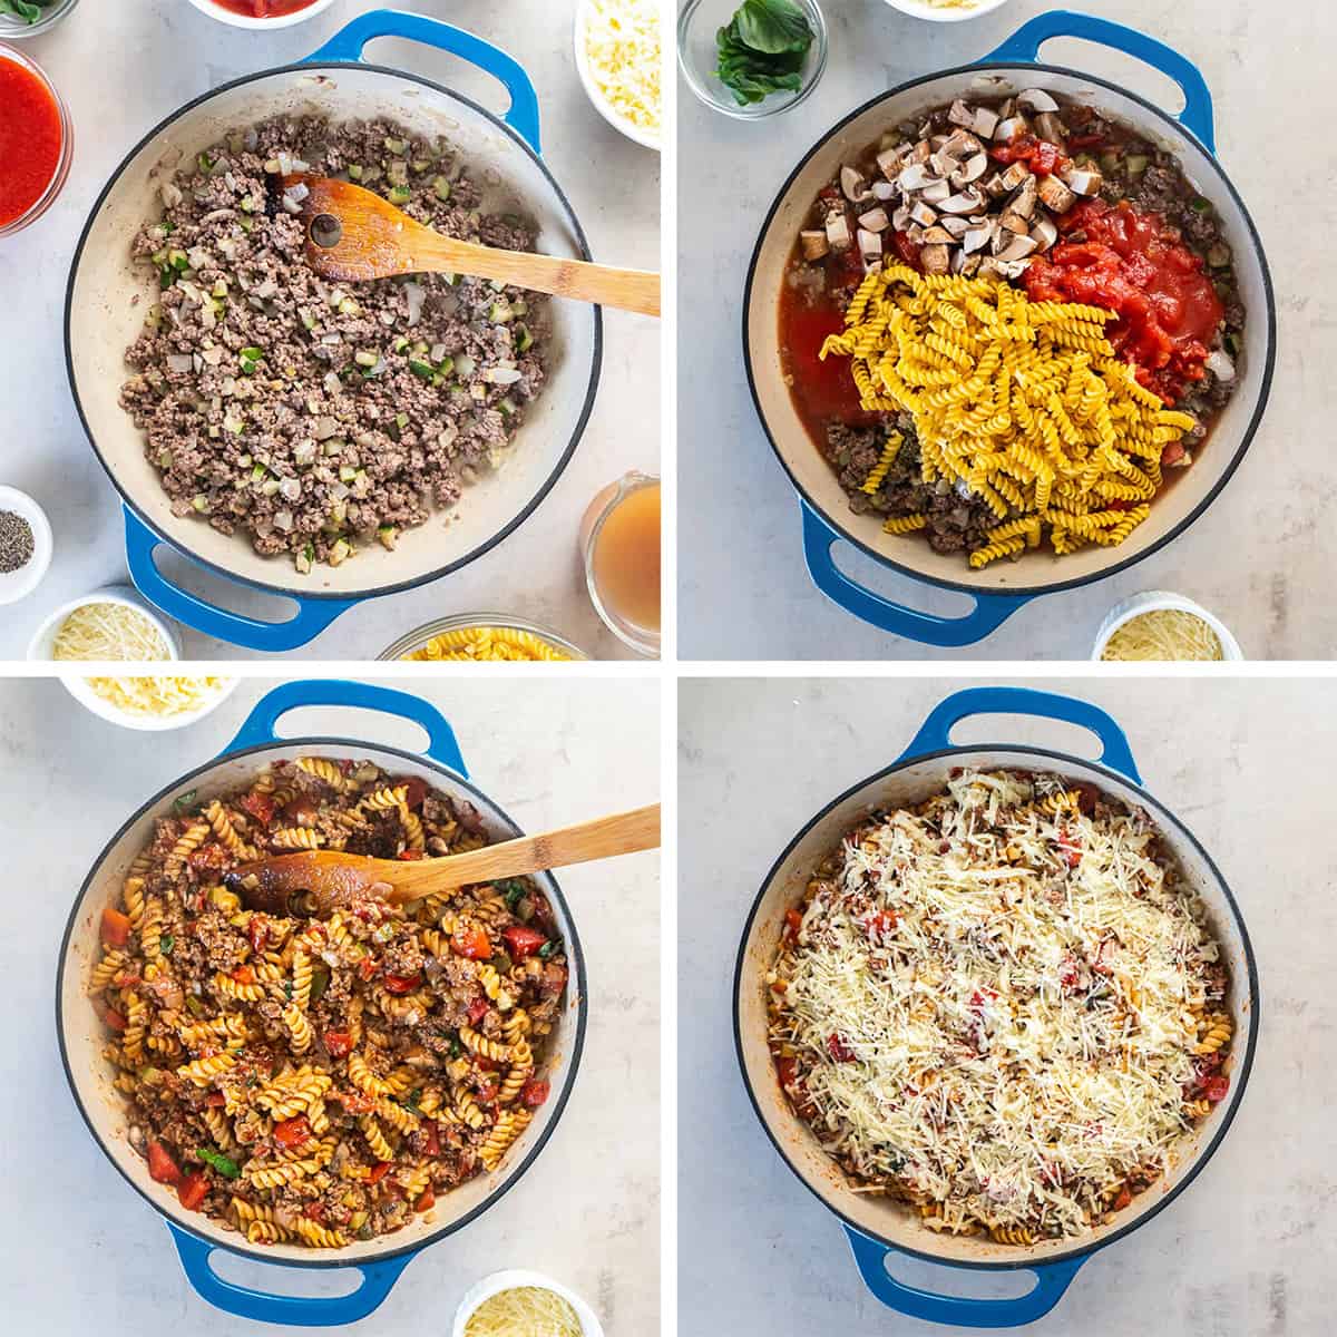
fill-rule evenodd
<path id="1" fill-rule="evenodd" d="M 615 306 L 642 316 L 659 314 L 659 275 L 640 269 L 611 269 L 583 259 L 535 255 L 529 251 L 493 250 L 473 242 L 441 237 L 431 229 L 413 230 L 405 243 L 413 250 L 416 269 L 495 278 L 535 293 L 571 297 L 598 306 Z"/>

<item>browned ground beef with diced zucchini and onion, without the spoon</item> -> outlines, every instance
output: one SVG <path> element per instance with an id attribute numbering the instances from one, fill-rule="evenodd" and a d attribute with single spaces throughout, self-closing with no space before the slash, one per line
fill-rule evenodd
<path id="1" fill-rule="evenodd" d="M 463 275 L 341 287 L 303 255 L 310 171 L 357 182 L 464 241 L 533 250 L 451 144 L 388 120 L 269 120 L 162 187 L 135 258 L 160 295 L 120 401 L 179 516 L 301 572 L 453 507 L 500 465 L 544 380 L 544 298 Z"/>

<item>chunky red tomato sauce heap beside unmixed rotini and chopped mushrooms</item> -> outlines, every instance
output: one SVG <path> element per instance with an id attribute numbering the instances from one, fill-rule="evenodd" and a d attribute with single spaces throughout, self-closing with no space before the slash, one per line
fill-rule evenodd
<path id="1" fill-rule="evenodd" d="M 1087 302 L 1116 312 L 1107 330 L 1119 356 L 1138 368 L 1138 380 L 1166 402 L 1183 397 L 1203 378 L 1203 362 L 1225 308 L 1203 273 L 1202 258 L 1182 243 L 1159 214 L 1127 201 L 1078 205 L 1062 219 L 1059 242 L 1032 261 L 1025 289 L 1032 301 Z"/>

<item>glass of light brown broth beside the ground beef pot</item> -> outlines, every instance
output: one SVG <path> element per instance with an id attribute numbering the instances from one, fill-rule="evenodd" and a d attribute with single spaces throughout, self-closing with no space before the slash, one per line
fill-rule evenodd
<path id="1" fill-rule="evenodd" d="M 659 480 L 610 483 L 580 521 L 586 588 L 595 611 L 636 654 L 659 654 Z"/>

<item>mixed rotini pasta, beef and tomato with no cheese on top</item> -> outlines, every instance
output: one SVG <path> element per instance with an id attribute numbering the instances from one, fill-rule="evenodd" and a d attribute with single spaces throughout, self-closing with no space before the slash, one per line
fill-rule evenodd
<path id="1" fill-rule="evenodd" d="M 341 1247 L 497 1167 L 550 1091 L 568 972 L 543 892 L 515 878 L 393 906 L 373 886 L 318 917 L 225 885 L 271 852 L 485 844 L 468 802 L 324 757 L 159 818 L 103 912 L 90 989 L 130 1142 L 183 1207 L 251 1243 Z"/>

